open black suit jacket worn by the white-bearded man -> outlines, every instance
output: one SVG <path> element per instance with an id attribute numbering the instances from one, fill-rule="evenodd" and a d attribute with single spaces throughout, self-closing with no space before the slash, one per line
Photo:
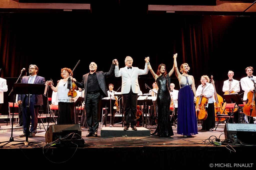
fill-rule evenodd
<path id="1" fill-rule="evenodd" d="M 102 98 L 108 97 L 105 78 L 111 76 L 114 73 L 114 70 L 115 70 L 115 64 L 112 64 L 109 72 L 105 72 L 105 73 L 103 71 L 96 72 L 98 83 L 101 89 L 100 92 L 101 92 Z M 88 80 L 89 74 L 90 73 L 83 75 L 83 81 L 81 83 L 76 82 L 77 87 L 84 88 L 84 101 L 86 101 L 86 97 L 87 97 L 87 80 Z"/>

